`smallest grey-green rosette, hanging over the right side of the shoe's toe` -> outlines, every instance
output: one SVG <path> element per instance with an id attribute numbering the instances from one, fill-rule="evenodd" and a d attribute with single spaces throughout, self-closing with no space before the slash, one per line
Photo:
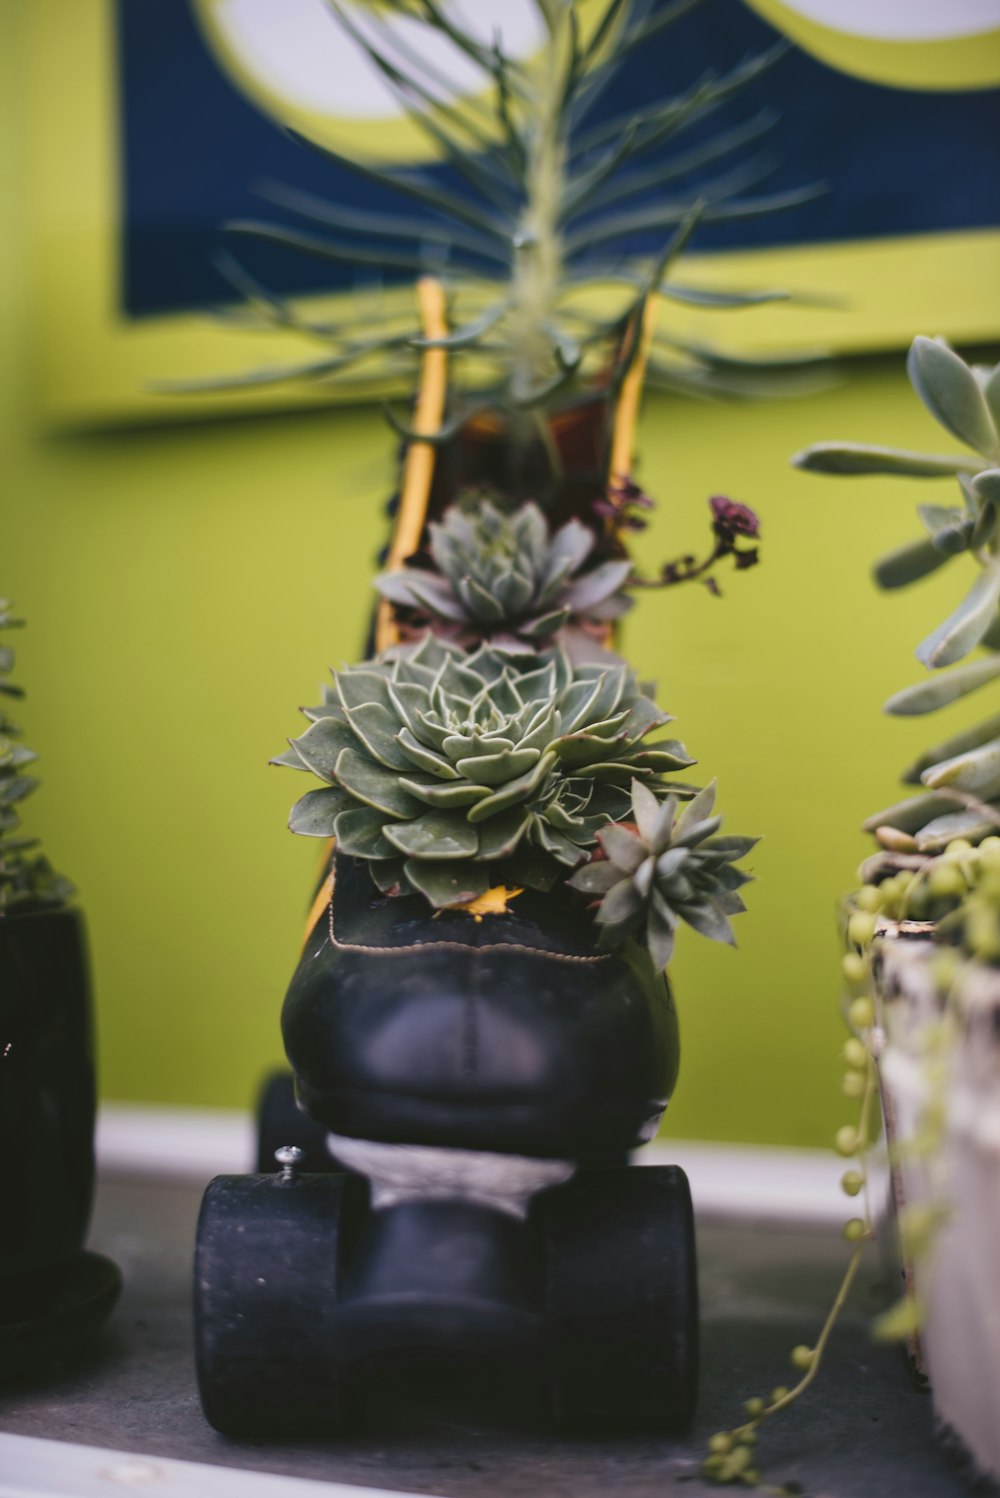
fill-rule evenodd
<path id="1" fill-rule="evenodd" d="M 737 891 L 750 881 L 735 864 L 757 839 L 719 836 L 722 816 L 713 815 L 714 806 L 714 780 L 684 810 L 677 797 L 657 800 L 642 780 L 632 782 L 633 824 L 603 827 L 597 833 L 603 858 L 569 881 L 582 894 L 602 896 L 596 918 L 605 947 L 642 935 L 659 972 L 671 960 L 681 921 L 713 941 L 735 944 L 729 917 L 746 909 Z"/>

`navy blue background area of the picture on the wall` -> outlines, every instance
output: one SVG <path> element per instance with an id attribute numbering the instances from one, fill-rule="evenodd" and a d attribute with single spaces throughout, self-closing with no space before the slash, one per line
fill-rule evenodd
<path id="1" fill-rule="evenodd" d="M 251 103 L 213 55 L 187 0 L 118 0 L 117 15 L 121 303 L 127 315 L 232 300 L 213 264 L 223 247 L 237 247 L 220 225 L 247 216 L 289 222 L 257 195 L 263 180 L 355 207 L 398 208 L 379 187 L 296 145 Z M 728 69 L 777 37 L 741 0 L 707 0 L 630 60 L 602 96 L 593 121 L 684 91 L 707 69 Z M 737 250 L 1000 225 L 999 103 L 996 88 L 886 87 L 795 49 L 710 120 L 686 130 L 672 150 L 686 151 L 774 109 L 777 127 L 743 153 L 743 159 L 762 153 L 774 159 L 774 171 L 753 192 L 810 183 L 829 190 L 780 214 L 708 225 L 695 247 Z M 428 171 L 454 192 L 463 190 L 446 168 Z M 719 171 L 707 169 L 710 175 Z M 698 181 L 690 174 L 678 186 L 693 196 Z M 642 237 L 630 244 L 650 247 Z M 263 282 L 286 294 L 335 291 L 364 279 L 349 265 L 268 246 L 240 241 L 238 252 Z"/>

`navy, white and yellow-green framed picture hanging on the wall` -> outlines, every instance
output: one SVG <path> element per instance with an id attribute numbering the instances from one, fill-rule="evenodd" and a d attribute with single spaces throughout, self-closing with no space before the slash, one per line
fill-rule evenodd
<path id="1" fill-rule="evenodd" d="M 371 4 L 349 3 L 364 27 Z M 501 25 L 519 55 L 539 43 L 533 0 L 449 0 L 449 9 L 484 36 Z M 479 85 L 406 4 L 377 13 L 458 100 Z M 46 415 L 169 419 L 337 398 L 332 385 L 183 403 L 148 388 L 301 355 L 290 339 L 237 334 L 208 316 L 232 301 L 217 268 L 222 225 L 280 220 L 263 184 L 355 208 L 391 205 L 377 186 L 296 145 L 286 126 L 347 156 L 449 177 L 325 0 L 36 0 L 31 24 Z M 999 337 L 1000 0 L 704 0 L 605 90 L 594 117 L 683 91 L 777 34 L 795 48 L 717 109 L 711 129 L 760 123 L 759 190 L 828 190 L 781 214 L 707 226 L 686 279 L 778 285 L 802 301 L 725 322 L 687 310 L 675 319 L 741 352 L 883 349 L 921 330 Z M 684 187 L 698 181 L 693 171 Z M 370 285 L 370 271 L 277 247 L 241 255 L 287 295 L 341 300 Z M 386 271 L 385 295 L 406 295 L 397 283 Z"/>

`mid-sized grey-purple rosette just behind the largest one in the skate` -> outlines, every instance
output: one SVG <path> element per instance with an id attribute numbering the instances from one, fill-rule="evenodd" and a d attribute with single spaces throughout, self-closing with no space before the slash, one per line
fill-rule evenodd
<path id="1" fill-rule="evenodd" d="M 630 562 L 581 571 L 596 542 L 588 526 L 569 520 L 552 533 L 531 502 L 512 514 L 479 496 L 473 503 L 430 526 L 437 571 L 382 572 L 383 598 L 433 620 L 437 634 L 515 649 L 537 647 L 570 619 L 608 620 L 632 607 L 621 592 Z"/>

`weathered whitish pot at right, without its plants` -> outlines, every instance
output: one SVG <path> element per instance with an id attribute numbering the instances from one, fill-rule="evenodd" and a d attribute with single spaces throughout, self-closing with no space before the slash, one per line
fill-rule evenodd
<path id="1" fill-rule="evenodd" d="M 948 1007 L 931 927 L 880 921 L 873 945 L 879 1076 L 897 1207 L 945 1207 L 933 1249 L 903 1266 L 924 1305 L 918 1372 L 972 1464 L 1000 1479 L 1000 972 L 969 963 Z M 934 1040 L 934 1037 L 937 1037 Z M 930 1046 L 928 1046 L 930 1041 Z M 936 1074 L 937 1068 L 937 1074 Z M 937 1146 L 910 1153 L 928 1106 Z"/>

